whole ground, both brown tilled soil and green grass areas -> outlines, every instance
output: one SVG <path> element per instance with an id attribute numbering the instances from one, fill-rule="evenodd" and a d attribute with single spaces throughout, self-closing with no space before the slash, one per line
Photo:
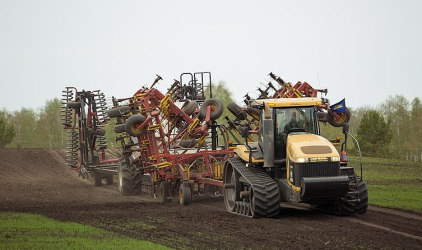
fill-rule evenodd
<path id="1" fill-rule="evenodd" d="M 0 150 L 0 249 L 421 249 L 421 165 L 363 163 L 364 215 L 282 204 L 278 218 L 248 219 L 212 194 L 182 206 L 94 187 L 65 167 L 61 151 Z"/>

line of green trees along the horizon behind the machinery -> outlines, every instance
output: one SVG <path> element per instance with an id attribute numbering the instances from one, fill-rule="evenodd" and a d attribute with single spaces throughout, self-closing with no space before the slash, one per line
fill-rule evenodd
<path id="1" fill-rule="evenodd" d="M 232 101 L 232 94 L 224 82 L 213 85 L 213 97 L 221 99 L 224 106 Z M 60 124 L 61 105 L 55 98 L 47 100 L 45 106 L 37 110 L 0 110 L 0 148 L 64 148 L 66 133 Z M 349 109 L 352 113 L 350 133 L 359 140 L 364 156 L 422 160 L 422 103 L 419 98 L 409 102 L 396 95 L 377 107 Z M 222 117 L 225 115 L 233 118 L 227 109 Z M 109 146 L 115 145 L 112 126 L 107 127 Z M 341 134 L 341 129 L 329 125 L 322 125 L 321 131 L 328 139 Z M 353 144 L 348 147 L 356 150 Z"/>

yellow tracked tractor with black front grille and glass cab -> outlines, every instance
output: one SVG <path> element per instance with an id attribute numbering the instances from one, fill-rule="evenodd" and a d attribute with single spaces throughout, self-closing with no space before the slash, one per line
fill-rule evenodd
<path id="1" fill-rule="evenodd" d="M 260 110 L 258 140 L 237 145 L 223 173 L 224 203 L 231 213 L 275 217 L 282 202 L 349 215 L 365 213 L 366 184 L 340 160 L 332 142 L 320 135 L 326 99 L 316 97 L 255 100 Z M 343 126 L 346 140 L 347 123 Z M 249 129 L 241 129 L 248 138 Z"/>

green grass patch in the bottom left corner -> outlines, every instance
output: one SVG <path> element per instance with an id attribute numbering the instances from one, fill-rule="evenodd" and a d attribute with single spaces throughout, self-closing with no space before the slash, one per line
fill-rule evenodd
<path id="1" fill-rule="evenodd" d="M 0 249 L 170 249 L 40 215 L 0 213 Z"/>

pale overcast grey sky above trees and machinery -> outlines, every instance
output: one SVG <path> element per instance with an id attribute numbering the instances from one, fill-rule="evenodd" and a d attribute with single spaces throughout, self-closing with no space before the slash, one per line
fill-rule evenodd
<path id="1" fill-rule="evenodd" d="M 354 108 L 412 101 L 422 98 L 421 10 L 418 0 L 0 0 L 0 109 L 40 108 L 66 86 L 128 97 L 155 74 L 165 91 L 197 71 L 239 103 L 271 71 Z"/>

